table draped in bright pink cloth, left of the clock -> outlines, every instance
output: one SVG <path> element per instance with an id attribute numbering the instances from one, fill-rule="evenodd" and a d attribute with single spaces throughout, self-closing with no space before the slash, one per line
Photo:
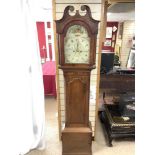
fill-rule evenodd
<path id="1" fill-rule="evenodd" d="M 55 61 L 48 61 L 42 66 L 43 82 L 45 95 L 52 95 L 56 97 L 56 63 Z"/>

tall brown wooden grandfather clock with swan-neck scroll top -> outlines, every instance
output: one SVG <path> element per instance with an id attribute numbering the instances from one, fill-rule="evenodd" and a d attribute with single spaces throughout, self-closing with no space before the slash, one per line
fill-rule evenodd
<path id="1" fill-rule="evenodd" d="M 95 68 L 98 23 L 87 5 L 84 16 L 67 6 L 56 21 L 59 68 L 65 79 L 65 128 L 62 131 L 62 155 L 92 155 L 92 129 L 89 122 L 90 72 Z"/>

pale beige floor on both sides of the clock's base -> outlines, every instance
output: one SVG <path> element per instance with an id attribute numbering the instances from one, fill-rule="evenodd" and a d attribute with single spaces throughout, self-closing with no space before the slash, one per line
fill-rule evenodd
<path id="1" fill-rule="evenodd" d="M 57 102 L 54 98 L 46 98 L 46 149 L 32 150 L 27 155 L 62 155 L 62 144 L 58 136 Z M 135 142 L 133 140 L 113 140 L 113 147 L 106 145 L 105 135 L 100 121 L 97 121 L 96 140 L 93 142 L 93 155 L 134 155 Z"/>

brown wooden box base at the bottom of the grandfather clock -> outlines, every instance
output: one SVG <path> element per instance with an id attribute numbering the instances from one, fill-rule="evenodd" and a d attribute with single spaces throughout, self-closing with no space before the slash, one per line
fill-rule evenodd
<path id="1" fill-rule="evenodd" d="M 62 131 L 62 155 L 92 155 L 90 127 L 66 127 Z"/>

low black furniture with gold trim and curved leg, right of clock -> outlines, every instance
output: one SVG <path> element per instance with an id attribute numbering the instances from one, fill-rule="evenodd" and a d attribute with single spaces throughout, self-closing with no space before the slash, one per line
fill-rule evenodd
<path id="1" fill-rule="evenodd" d="M 104 104 L 104 110 L 99 113 L 109 146 L 114 138 L 135 137 L 134 100 L 133 93 L 121 94 L 117 104 Z"/>

